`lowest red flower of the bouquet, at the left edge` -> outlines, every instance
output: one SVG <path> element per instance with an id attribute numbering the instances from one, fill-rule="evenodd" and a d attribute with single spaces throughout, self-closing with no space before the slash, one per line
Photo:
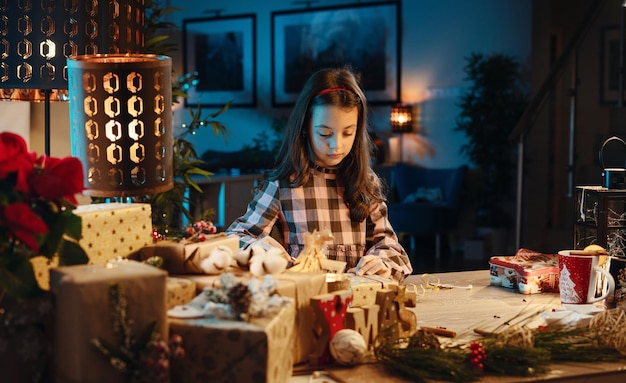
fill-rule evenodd
<path id="1" fill-rule="evenodd" d="M 2 210 L 0 217 L 4 226 L 19 240 L 34 251 L 39 251 L 39 245 L 35 239 L 35 234 L 45 234 L 48 232 L 46 223 L 35 214 L 30 206 L 22 202 L 7 205 Z"/>

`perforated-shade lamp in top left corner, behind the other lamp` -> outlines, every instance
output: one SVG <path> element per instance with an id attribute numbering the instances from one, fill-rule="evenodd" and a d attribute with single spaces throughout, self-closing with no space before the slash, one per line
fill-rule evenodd
<path id="1" fill-rule="evenodd" d="M 138 52 L 144 45 L 144 0 L 0 0 L 0 100 L 67 101 L 68 57 Z"/>

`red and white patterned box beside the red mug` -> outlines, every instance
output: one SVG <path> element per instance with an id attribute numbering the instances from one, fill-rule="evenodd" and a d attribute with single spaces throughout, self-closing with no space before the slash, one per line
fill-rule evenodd
<path id="1" fill-rule="evenodd" d="M 520 249 L 514 256 L 489 259 L 490 284 L 522 294 L 559 291 L 559 256 Z"/>

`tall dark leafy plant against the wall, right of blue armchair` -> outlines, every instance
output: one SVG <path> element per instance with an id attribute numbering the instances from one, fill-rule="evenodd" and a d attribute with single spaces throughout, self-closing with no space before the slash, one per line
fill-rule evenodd
<path id="1" fill-rule="evenodd" d="M 509 135 L 528 104 L 527 84 L 512 56 L 471 53 L 466 61 L 470 85 L 458 104 L 455 130 L 467 136 L 460 150 L 476 166 L 467 197 L 476 203 L 477 227 L 507 228 L 507 202 L 515 184 L 515 146 Z"/>

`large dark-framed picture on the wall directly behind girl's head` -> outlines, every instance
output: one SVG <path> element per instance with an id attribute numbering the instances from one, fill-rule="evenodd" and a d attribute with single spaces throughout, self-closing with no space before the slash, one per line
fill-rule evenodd
<path id="1" fill-rule="evenodd" d="M 349 66 L 371 104 L 400 101 L 400 3 L 272 12 L 272 105 L 291 106 L 306 79 Z"/>

